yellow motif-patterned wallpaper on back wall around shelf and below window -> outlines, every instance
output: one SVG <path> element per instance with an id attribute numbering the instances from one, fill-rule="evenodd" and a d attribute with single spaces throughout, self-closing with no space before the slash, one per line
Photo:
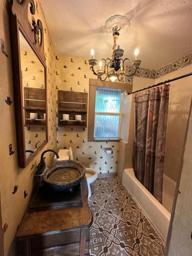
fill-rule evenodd
<path id="1" fill-rule="evenodd" d="M 59 90 L 89 93 L 90 78 L 96 77 L 92 74 L 87 59 L 56 56 L 56 84 Z M 84 163 L 86 167 L 96 169 L 98 173 L 117 172 L 119 142 L 88 142 L 87 140 L 87 128 L 65 126 L 57 129 L 57 148 L 69 149 L 71 146 L 74 160 Z M 101 147 L 112 147 L 113 154 L 107 155 Z"/>

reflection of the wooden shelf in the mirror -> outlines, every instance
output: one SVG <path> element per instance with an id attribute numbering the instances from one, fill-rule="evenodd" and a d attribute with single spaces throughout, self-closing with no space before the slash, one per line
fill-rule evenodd
<path id="1" fill-rule="evenodd" d="M 44 114 L 46 113 L 46 94 L 45 89 L 24 87 L 24 126 L 42 126 L 46 125 Z M 37 113 L 38 119 L 30 119 L 30 113 Z"/>

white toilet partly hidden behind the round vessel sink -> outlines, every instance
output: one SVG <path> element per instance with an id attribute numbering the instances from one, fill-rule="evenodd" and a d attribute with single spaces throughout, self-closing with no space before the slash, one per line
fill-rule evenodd
<path id="1" fill-rule="evenodd" d="M 69 148 L 69 150 L 64 150 L 64 149 L 59 150 L 58 155 L 59 155 L 59 158 L 56 159 L 56 156 L 55 156 L 54 160 L 57 160 L 57 161 L 63 161 L 63 160 L 69 160 L 69 159 L 73 160 L 73 151 L 71 147 Z M 90 198 L 92 194 L 90 184 L 94 182 L 97 179 L 97 177 L 98 177 L 98 173 L 95 169 L 86 168 L 86 178 L 88 182 L 88 191 L 89 191 L 88 198 Z"/>

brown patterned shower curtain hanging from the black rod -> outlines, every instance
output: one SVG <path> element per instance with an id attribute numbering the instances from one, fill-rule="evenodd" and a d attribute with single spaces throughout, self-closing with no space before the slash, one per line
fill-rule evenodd
<path id="1" fill-rule="evenodd" d="M 135 94 L 133 167 L 137 179 L 162 203 L 169 85 Z"/>

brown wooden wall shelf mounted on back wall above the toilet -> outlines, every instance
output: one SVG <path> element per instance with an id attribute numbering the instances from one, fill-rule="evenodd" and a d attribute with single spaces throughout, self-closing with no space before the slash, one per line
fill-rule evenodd
<path id="1" fill-rule="evenodd" d="M 58 91 L 58 126 L 87 127 L 88 93 Z M 62 115 L 68 114 L 69 120 L 62 120 Z M 81 121 L 75 120 L 75 115 L 81 115 Z"/>

